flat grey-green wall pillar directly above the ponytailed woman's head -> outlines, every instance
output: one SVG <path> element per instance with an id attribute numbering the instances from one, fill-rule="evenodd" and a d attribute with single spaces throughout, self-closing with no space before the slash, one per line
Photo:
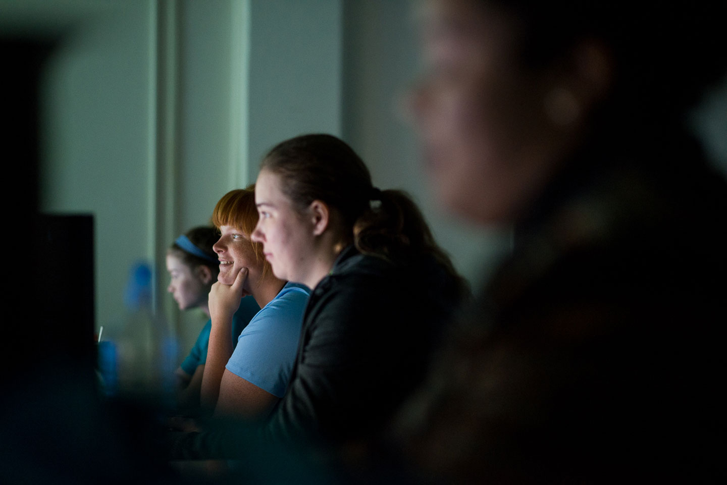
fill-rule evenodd
<path id="1" fill-rule="evenodd" d="M 249 71 L 251 180 L 278 142 L 341 132 L 340 0 L 252 1 Z"/>

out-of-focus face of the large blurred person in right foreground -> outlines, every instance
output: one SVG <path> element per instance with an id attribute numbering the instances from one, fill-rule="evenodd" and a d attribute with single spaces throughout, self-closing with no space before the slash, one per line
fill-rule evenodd
<path id="1" fill-rule="evenodd" d="M 547 76 L 521 67 L 517 21 L 486 1 L 420 7 L 425 76 L 411 111 L 435 195 L 475 222 L 510 222 L 552 156 Z"/>

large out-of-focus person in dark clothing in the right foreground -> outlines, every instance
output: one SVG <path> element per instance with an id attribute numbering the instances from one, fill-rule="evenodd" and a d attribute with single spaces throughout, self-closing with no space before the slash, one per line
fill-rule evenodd
<path id="1" fill-rule="evenodd" d="M 725 73 L 720 7 L 421 7 L 435 193 L 515 237 L 401 416 L 411 470 L 723 483 L 727 185 L 686 129 Z"/>

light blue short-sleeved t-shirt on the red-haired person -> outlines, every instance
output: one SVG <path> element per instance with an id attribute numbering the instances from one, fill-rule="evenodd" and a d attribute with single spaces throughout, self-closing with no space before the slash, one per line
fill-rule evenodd
<path id="1" fill-rule="evenodd" d="M 225 366 L 238 377 L 283 397 L 298 350 L 303 311 L 310 289 L 287 283 L 257 312 L 240 334 Z"/>

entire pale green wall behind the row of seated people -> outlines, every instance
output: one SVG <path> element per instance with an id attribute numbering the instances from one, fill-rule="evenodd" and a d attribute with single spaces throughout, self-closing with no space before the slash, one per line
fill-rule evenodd
<path id="1" fill-rule="evenodd" d="M 396 108 L 418 69 L 409 0 L 0 0 L 0 31 L 59 35 L 44 84 L 41 207 L 96 221 L 97 324 L 122 308 L 129 265 L 254 181 L 274 143 L 342 136 L 381 188 L 404 188 L 476 284 L 507 231 L 438 210 Z M 699 131 L 727 170 L 727 83 Z M 721 143 L 721 145 L 720 145 Z M 184 346 L 200 313 L 158 302 Z"/>

